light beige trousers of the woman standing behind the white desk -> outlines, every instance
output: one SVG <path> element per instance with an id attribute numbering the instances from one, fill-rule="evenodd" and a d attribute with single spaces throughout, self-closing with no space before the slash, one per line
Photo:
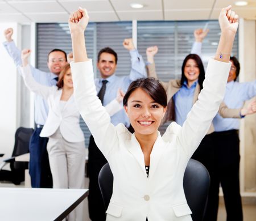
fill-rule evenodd
<path id="1" fill-rule="evenodd" d="M 66 141 L 58 129 L 49 137 L 47 144 L 49 164 L 52 172 L 53 188 L 84 188 L 85 144 L 84 141 Z M 80 203 L 68 215 L 68 221 L 80 221 L 83 217 L 83 204 Z"/>

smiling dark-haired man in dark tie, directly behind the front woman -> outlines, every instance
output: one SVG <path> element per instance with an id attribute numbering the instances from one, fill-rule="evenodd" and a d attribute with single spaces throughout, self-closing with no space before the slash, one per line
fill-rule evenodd
<path id="1" fill-rule="evenodd" d="M 146 77 L 143 58 L 139 55 L 137 49 L 134 48 L 132 39 L 125 39 L 123 41 L 123 46 L 125 49 L 129 50 L 131 56 L 131 71 L 128 76 L 115 75 L 115 69 L 117 68 L 117 53 L 115 53 L 113 49 L 103 48 L 98 53 L 97 68 L 100 71 L 101 78 L 96 78 L 94 82 L 97 94 L 104 106 L 115 99 L 119 88 L 126 92 L 133 80 Z M 102 90 L 105 91 L 103 95 Z M 129 119 L 126 116 L 124 109 L 115 113 L 111 117 L 111 122 L 113 125 L 122 123 L 127 128 L 130 126 Z M 92 221 L 105 221 L 106 210 L 98 186 L 98 173 L 107 161 L 101 151 L 98 150 L 92 136 L 90 137 L 88 151 L 88 175 L 90 179 L 88 196 L 89 216 Z"/>

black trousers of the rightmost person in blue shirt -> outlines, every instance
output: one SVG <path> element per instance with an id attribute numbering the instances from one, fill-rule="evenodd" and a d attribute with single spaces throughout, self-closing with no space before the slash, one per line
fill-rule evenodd
<path id="1" fill-rule="evenodd" d="M 220 184 L 224 193 L 227 221 L 242 221 L 242 202 L 239 183 L 239 137 L 237 130 L 213 133 L 214 180 L 211 181 L 209 207 L 205 220 L 216 221 Z"/>

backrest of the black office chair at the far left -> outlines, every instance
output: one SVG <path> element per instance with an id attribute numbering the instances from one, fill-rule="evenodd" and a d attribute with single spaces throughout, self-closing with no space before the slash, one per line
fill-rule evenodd
<path id="1" fill-rule="evenodd" d="M 18 128 L 15 133 L 15 143 L 12 156 L 19 156 L 29 152 L 30 137 L 34 129 Z M 20 176 L 24 176 L 24 170 L 27 168 L 27 162 L 11 162 L 11 171 L 18 172 Z"/>

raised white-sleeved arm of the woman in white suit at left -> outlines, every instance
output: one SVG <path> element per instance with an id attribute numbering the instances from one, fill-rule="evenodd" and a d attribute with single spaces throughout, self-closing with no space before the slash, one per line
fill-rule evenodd
<path id="1" fill-rule="evenodd" d="M 30 91 L 42 96 L 44 99 L 47 99 L 53 90 L 56 90 L 56 88 L 44 86 L 36 82 L 36 80 L 33 78 L 31 74 L 31 68 L 28 65 L 28 57 L 30 56 L 30 53 L 30 49 L 22 50 L 22 67 L 20 67 L 20 70 L 24 79 L 24 83 Z"/>

